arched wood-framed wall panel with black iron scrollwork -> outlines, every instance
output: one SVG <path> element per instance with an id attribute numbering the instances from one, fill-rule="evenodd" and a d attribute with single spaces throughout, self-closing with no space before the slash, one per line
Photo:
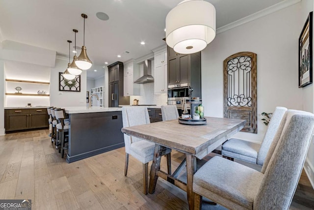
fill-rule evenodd
<path id="1" fill-rule="evenodd" d="M 224 118 L 244 119 L 241 131 L 257 133 L 257 55 L 236 53 L 224 60 Z"/>

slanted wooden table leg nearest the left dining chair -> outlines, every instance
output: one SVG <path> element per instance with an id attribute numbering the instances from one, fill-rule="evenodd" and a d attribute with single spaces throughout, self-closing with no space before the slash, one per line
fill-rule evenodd
<path id="1" fill-rule="evenodd" d="M 151 166 L 151 172 L 150 172 L 150 180 L 149 180 L 149 193 L 152 194 L 155 192 L 156 183 L 158 179 L 158 170 L 160 169 L 160 145 L 155 145 L 155 151 L 154 151 L 154 158 L 153 163 Z"/>

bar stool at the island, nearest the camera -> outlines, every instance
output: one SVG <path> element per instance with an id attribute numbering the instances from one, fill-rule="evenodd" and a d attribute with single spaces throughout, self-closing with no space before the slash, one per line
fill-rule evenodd
<path id="1" fill-rule="evenodd" d="M 69 121 L 65 120 L 65 110 L 64 109 L 55 109 L 55 118 L 58 120 L 58 124 L 56 125 L 57 132 L 57 146 L 60 145 L 59 152 L 61 151 L 61 157 L 64 156 L 64 150 L 67 150 L 65 147 L 65 143 L 68 142 L 69 138 Z"/>

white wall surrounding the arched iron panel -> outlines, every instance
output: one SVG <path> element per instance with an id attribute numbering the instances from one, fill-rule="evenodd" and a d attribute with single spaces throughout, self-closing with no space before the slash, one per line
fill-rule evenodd
<path id="1" fill-rule="evenodd" d="M 258 134 L 235 137 L 261 142 L 262 112 L 276 106 L 303 109 L 298 88 L 300 3 L 216 35 L 202 51 L 202 99 L 206 116 L 223 117 L 223 60 L 242 51 L 257 54 Z"/>

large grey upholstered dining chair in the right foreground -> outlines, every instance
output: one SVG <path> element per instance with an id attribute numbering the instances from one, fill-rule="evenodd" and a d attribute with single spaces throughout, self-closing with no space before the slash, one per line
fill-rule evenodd
<path id="1" fill-rule="evenodd" d="M 202 196 L 231 210 L 288 210 L 314 130 L 314 114 L 288 110 L 262 171 L 215 156 L 193 177 L 195 209 Z"/>

